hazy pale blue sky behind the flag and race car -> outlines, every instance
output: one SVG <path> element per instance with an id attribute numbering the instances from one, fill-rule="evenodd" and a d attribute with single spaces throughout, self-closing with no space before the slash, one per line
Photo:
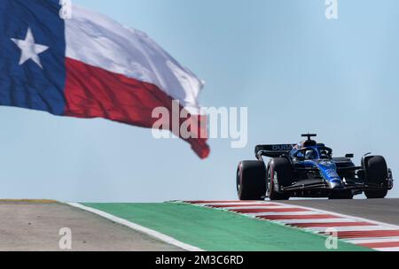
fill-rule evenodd
<path id="1" fill-rule="evenodd" d="M 104 119 L 0 108 L 0 197 L 144 202 L 234 199 L 257 143 L 302 132 L 337 155 L 383 154 L 399 174 L 399 1 L 73 0 L 145 31 L 207 81 L 205 106 L 246 106 L 249 143 L 185 142 Z M 399 196 L 399 187 L 390 196 Z"/>

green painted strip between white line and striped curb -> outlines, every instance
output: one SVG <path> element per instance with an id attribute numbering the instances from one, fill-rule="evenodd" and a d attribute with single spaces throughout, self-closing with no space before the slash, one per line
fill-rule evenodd
<path id="1" fill-rule="evenodd" d="M 83 205 L 106 211 L 203 250 L 326 251 L 324 236 L 228 211 L 175 203 Z M 340 242 L 339 250 L 369 249 Z"/>

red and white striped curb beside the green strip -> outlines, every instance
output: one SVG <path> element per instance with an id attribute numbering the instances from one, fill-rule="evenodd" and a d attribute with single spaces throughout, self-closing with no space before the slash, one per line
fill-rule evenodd
<path id="1" fill-rule="evenodd" d="M 184 203 L 231 211 L 316 234 L 327 234 L 327 229 L 334 229 L 338 237 L 345 242 L 373 250 L 399 251 L 399 227 L 371 219 L 275 202 L 187 201 Z"/>

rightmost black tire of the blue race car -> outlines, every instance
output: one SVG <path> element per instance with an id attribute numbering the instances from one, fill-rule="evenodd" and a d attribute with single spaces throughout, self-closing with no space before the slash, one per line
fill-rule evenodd
<path id="1" fill-rule="evenodd" d="M 364 159 L 364 170 L 366 183 L 379 185 L 381 188 L 386 186 L 388 178 L 387 161 L 382 156 L 372 156 Z M 382 199 L 387 196 L 387 189 L 365 190 L 364 195 L 368 199 Z"/>

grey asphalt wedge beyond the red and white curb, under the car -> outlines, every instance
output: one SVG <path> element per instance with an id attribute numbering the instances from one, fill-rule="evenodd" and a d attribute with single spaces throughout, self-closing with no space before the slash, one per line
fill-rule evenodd
<path id="1" fill-rule="evenodd" d="M 282 203 L 334 211 L 340 214 L 399 225 L 399 199 L 293 200 Z"/>

